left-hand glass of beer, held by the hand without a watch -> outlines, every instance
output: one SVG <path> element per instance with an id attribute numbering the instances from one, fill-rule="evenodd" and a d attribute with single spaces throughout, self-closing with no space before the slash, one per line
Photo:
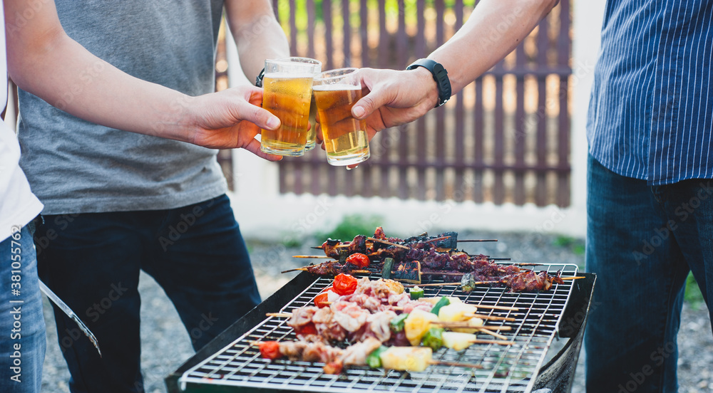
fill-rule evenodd
<path id="1" fill-rule="evenodd" d="M 312 58 L 279 58 L 265 61 L 262 108 L 279 118 L 279 128 L 262 130 L 263 152 L 299 157 L 304 154 L 309 130 L 312 79 L 322 63 Z"/>

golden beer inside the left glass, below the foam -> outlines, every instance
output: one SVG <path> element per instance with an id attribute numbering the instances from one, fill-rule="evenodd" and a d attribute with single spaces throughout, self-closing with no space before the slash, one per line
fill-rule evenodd
<path id="1" fill-rule="evenodd" d="M 309 103 L 312 99 L 312 75 L 302 78 L 274 78 L 265 75 L 262 108 L 279 117 L 277 130 L 262 130 L 262 151 L 301 156 L 309 130 Z"/>

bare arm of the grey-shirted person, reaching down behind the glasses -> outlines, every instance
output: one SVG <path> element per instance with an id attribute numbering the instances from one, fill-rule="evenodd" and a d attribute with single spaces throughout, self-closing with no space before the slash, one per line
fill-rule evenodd
<path id="1" fill-rule="evenodd" d="M 228 0 L 225 11 L 240 66 L 252 83 L 265 67 L 265 59 L 289 56 L 287 37 L 275 19 L 269 0 Z"/>

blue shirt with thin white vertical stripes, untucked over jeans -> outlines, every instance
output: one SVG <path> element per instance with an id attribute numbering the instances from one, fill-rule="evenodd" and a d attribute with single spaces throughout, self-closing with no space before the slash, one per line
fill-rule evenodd
<path id="1" fill-rule="evenodd" d="M 713 0 L 609 0 L 587 138 L 648 184 L 713 177 Z"/>

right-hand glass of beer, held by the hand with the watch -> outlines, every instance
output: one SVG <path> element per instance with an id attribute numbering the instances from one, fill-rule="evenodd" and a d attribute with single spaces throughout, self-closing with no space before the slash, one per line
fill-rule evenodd
<path id="1" fill-rule="evenodd" d="M 314 78 L 314 101 L 327 162 L 332 165 L 359 164 L 369 158 L 366 124 L 352 117 L 352 106 L 361 98 L 358 72 L 356 68 L 339 68 Z"/>

